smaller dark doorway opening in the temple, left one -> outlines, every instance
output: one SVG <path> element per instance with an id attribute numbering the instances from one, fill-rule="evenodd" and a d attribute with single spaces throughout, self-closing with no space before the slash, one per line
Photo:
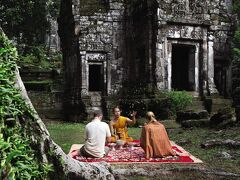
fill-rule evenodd
<path id="1" fill-rule="evenodd" d="M 89 91 L 103 90 L 103 69 L 102 65 L 89 65 Z"/>

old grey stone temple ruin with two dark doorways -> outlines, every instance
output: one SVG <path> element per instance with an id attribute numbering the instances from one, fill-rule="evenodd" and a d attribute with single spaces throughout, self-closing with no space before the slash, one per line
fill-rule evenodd
<path id="1" fill-rule="evenodd" d="M 123 82 L 196 96 L 231 92 L 230 0 L 75 0 L 82 97 Z"/>

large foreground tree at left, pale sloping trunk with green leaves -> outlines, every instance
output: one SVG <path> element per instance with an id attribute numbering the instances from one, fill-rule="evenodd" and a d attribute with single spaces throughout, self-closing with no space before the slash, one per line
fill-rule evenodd
<path id="1" fill-rule="evenodd" d="M 27 95 L 16 68 L 17 58 L 16 48 L 11 46 L 10 41 L 0 29 L 0 179 L 39 177 L 39 174 L 36 174 L 38 167 L 33 166 L 36 159 L 40 164 L 53 165 L 53 172 L 49 174 L 49 179 L 114 179 L 107 163 L 90 164 L 76 161 L 54 143 Z M 4 77 L 5 75 L 7 76 Z M 19 91 L 9 90 L 9 88 L 17 88 Z M 21 136 L 18 124 L 21 132 L 23 131 L 22 139 L 18 138 L 14 141 L 16 137 Z M 10 131 L 13 133 L 9 133 Z M 36 157 L 32 160 L 32 166 L 29 159 L 33 155 L 26 157 L 26 153 L 32 151 L 29 146 L 26 147 L 26 143 L 24 144 L 29 141 L 28 144 L 34 150 Z M 13 144 L 13 148 L 9 144 Z M 15 166 L 21 167 L 23 171 L 18 172 L 19 169 L 14 168 Z M 34 172 L 29 172 L 29 169 Z M 23 173 L 25 176 L 20 176 Z M 33 174 L 36 176 L 32 177 Z"/>

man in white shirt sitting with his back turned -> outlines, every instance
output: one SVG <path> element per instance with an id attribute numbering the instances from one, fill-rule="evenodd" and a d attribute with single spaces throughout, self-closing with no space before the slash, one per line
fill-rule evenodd
<path id="1" fill-rule="evenodd" d="M 85 144 L 78 152 L 84 157 L 100 158 L 107 154 L 105 143 L 111 141 L 111 132 L 107 123 L 102 122 L 102 112 L 96 110 L 94 119 L 85 127 Z"/>

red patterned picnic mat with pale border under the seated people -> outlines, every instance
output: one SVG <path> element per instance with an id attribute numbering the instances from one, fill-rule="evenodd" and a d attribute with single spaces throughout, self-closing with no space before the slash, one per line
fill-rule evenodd
<path id="1" fill-rule="evenodd" d="M 123 146 L 121 149 L 115 147 L 110 150 L 108 155 L 103 158 L 85 158 L 77 156 L 75 159 L 81 162 L 109 162 L 109 163 L 201 163 L 202 161 L 186 152 L 182 147 L 171 142 L 173 149 L 179 152 L 180 156 L 168 156 L 164 158 L 145 158 L 145 153 L 139 145 L 139 141 L 135 140 L 134 147 Z"/>

